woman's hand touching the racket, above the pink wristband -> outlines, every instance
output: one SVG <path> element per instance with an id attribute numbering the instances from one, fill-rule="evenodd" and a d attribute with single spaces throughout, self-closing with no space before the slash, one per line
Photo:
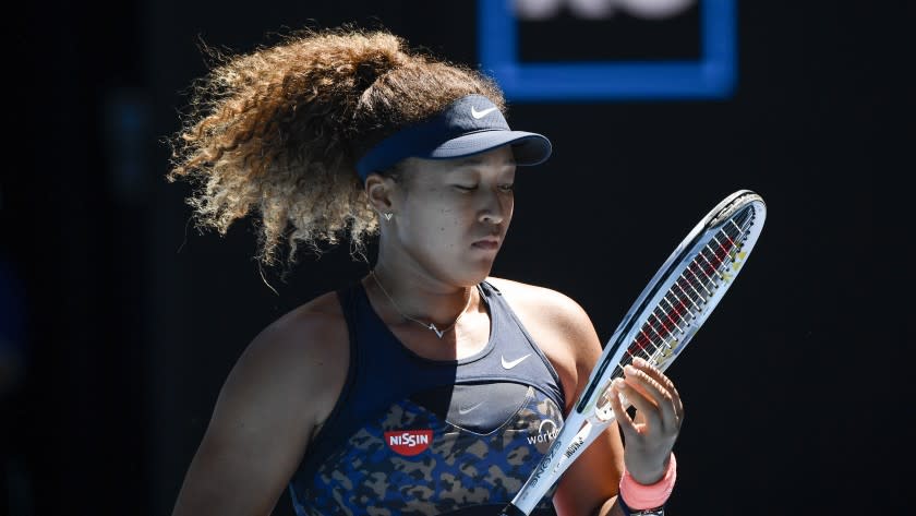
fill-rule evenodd
<path id="1" fill-rule="evenodd" d="M 620 403 L 622 394 L 636 407 L 636 421 Z M 637 358 L 624 368 L 624 377 L 611 384 L 607 395 L 624 433 L 627 471 L 639 483 L 658 482 L 667 469 L 684 421 L 684 404 L 674 383 L 649 362 Z"/>

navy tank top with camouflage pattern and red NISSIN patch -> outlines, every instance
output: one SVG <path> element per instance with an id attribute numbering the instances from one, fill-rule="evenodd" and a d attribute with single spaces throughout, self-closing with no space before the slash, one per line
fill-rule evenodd
<path id="1" fill-rule="evenodd" d="M 563 424 L 550 361 L 501 292 L 482 283 L 486 346 L 454 361 L 405 347 L 361 283 L 337 292 L 350 364 L 337 405 L 289 483 L 299 516 L 497 514 Z M 555 514 L 553 491 L 532 514 Z"/>

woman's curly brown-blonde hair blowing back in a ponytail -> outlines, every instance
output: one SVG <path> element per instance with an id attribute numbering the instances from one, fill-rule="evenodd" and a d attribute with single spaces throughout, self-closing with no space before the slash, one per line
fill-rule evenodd
<path id="1" fill-rule="evenodd" d="M 505 111 L 491 79 L 385 31 L 303 29 L 239 56 L 202 49 L 215 64 L 192 84 L 166 177 L 194 187 L 198 229 L 225 236 L 256 212 L 265 265 L 284 241 L 288 264 L 300 244 L 320 253 L 341 237 L 362 254 L 378 219 L 355 163 L 378 141 L 470 94 Z"/>

